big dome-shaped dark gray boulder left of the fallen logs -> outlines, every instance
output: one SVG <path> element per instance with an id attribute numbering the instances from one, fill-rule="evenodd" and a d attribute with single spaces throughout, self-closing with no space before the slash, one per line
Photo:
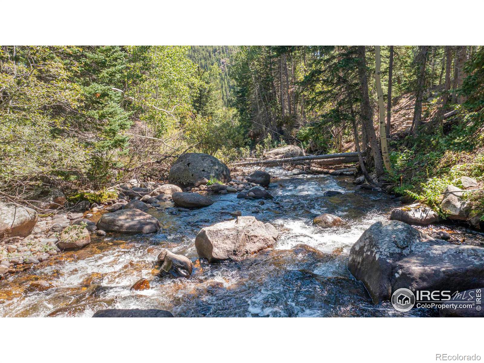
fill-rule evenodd
<path id="1" fill-rule="evenodd" d="M 229 168 L 209 154 L 189 152 L 181 155 L 170 168 L 168 181 L 182 187 L 194 186 L 203 178 L 230 181 Z"/>

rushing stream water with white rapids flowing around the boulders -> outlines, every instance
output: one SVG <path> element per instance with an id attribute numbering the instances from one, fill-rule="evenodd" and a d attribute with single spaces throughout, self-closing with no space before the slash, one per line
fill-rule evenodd
<path id="1" fill-rule="evenodd" d="M 435 316 L 435 311 L 395 311 L 389 302 L 374 305 L 361 282 L 348 272 L 351 245 L 376 221 L 388 218 L 396 203 L 384 193 L 359 189 L 350 177 L 292 176 L 267 169 L 272 200 L 213 195 L 207 208 L 179 212 L 171 202 L 150 212 L 162 229 L 151 235 L 93 238 L 81 250 L 66 252 L 0 281 L 0 316 L 84 316 L 105 308 L 157 308 L 179 317 L 333 317 Z M 343 194 L 323 197 L 327 190 Z M 200 228 L 242 211 L 280 231 L 273 250 L 241 262 L 199 261 L 194 241 Z M 256 211 L 257 210 L 257 211 Z M 320 213 L 340 216 L 345 224 L 313 226 Z M 188 278 L 160 278 L 155 265 L 166 247 L 194 261 Z M 131 291 L 139 278 L 151 289 Z M 31 291 L 34 280 L 53 287 Z"/>

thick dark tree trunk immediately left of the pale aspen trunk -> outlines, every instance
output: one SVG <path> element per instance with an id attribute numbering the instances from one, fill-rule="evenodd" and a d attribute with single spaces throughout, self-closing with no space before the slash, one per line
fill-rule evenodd
<path id="1" fill-rule="evenodd" d="M 378 144 L 375 128 L 373 127 L 373 113 L 370 106 L 370 97 L 368 95 L 368 78 L 366 76 L 366 55 L 364 45 L 358 46 L 358 76 L 360 78 L 360 92 L 361 92 L 361 119 L 364 131 L 371 148 L 373 160 L 375 161 L 375 169 L 377 175 L 383 175 L 383 161 L 381 159 L 381 149 Z"/>

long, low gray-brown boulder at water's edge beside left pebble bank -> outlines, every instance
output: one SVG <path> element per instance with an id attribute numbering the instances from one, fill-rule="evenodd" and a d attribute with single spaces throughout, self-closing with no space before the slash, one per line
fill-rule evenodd
<path id="1" fill-rule="evenodd" d="M 130 208 L 103 214 L 97 227 L 106 232 L 152 233 L 160 228 L 160 222 L 148 213 Z"/>

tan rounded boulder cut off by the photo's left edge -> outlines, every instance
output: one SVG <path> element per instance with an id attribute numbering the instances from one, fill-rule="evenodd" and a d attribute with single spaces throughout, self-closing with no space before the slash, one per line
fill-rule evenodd
<path id="1" fill-rule="evenodd" d="M 31 208 L 0 202 L 0 238 L 27 237 L 37 218 L 37 212 Z"/>

